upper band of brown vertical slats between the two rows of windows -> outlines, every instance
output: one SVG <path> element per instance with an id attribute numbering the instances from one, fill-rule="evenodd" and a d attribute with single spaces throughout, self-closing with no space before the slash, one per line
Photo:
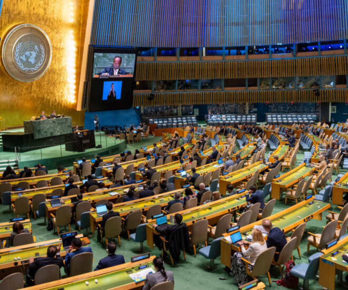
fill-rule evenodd
<path id="1" fill-rule="evenodd" d="M 138 62 L 136 80 L 348 75 L 348 56 L 286 60 Z"/>

